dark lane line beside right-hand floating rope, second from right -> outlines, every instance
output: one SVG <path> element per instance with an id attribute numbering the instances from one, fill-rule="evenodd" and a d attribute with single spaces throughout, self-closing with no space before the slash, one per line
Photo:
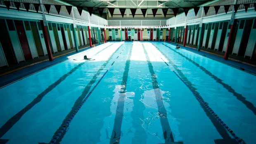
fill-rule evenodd
<path id="1" fill-rule="evenodd" d="M 154 45 L 154 44 L 153 44 Z M 156 47 L 156 45 L 154 45 Z M 161 50 L 156 47 L 157 50 L 159 50 L 159 52 L 161 52 Z M 216 113 L 208 106 L 208 103 L 204 101 L 204 99 L 200 96 L 199 92 L 197 92 L 197 89 L 195 87 L 193 87 L 192 83 L 187 79 L 187 77 L 182 73 L 182 71 L 178 68 L 178 66 L 176 66 L 173 61 L 171 61 L 171 59 L 168 58 L 168 56 L 166 54 L 164 54 L 163 52 L 161 52 L 161 54 L 168 59 L 169 63 L 173 66 L 173 68 L 175 69 L 175 71 L 177 71 L 177 73 L 175 71 L 173 71 L 175 73 L 175 75 L 180 78 L 180 80 L 190 89 L 190 91 L 193 93 L 193 95 L 196 97 L 197 101 L 199 102 L 201 108 L 204 110 L 204 112 L 206 113 L 206 116 L 211 120 L 211 122 L 213 123 L 214 127 L 216 128 L 216 130 L 219 132 L 219 134 L 221 135 L 221 137 L 223 137 L 223 139 L 215 139 L 215 143 L 216 144 L 245 144 L 245 142 L 240 139 L 239 137 L 237 137 L 235 135 L 235 133 L 230 130 L 230 128 L 216 115 Z M 168 64 L 166 64 L 168 66 Z M 228 134 L 228 132 L 230 132 L 230 134 L 235 138 L 235 139 L 231 139 L 230 135 Z"/>

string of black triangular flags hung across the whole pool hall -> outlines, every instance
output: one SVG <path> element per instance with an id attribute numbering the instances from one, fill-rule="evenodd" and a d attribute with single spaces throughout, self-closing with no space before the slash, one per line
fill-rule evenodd
<path id="1" fill-rule="evenodd" d="M 3 1 L 3 0 L 1 0 L 1 1 Z M 7 7 L 7 9 L 9 10 L 11 1 L 4 1 L 4 3 L 5 3 L 5 6 Z M 15 5 L 15 7 L 17 8 L 18 11 L 19 11 L 19 8 L 20 8 L 21 3 L 23 3 L 23 5 L 24 5 L 24 7 L 25 7 L 25 9 L 26 9 L 27 12 L 28 12 L 28 10 L 29 10 L 30 5 L 33 4 L 34 7 L 35 7 L 35 9 L 36 9 L 36 12 L 38 12 L 40 5 L 44 5 L 46 11 L 47 11 L 48 14 L 49 14 L 50 8 L 51 8 L 51 6 L 52 6 L 52 5 L 50 5 L 50 4 L 39 4 L 39 3 L 28 3 L 28 2 L 14 2 L 14 5 Z M 233 6 L 234 6 L 235 13 L 237 12 L 237 10 L 238 10 L 238 8 L 239 8 L 240 5 L 244 5 L 245 12 L 247 12 L 247 9 L 248 9 L 248 7 L 249 7 L 250 4 L 253 4 L 253 5 L 254 5 L 254 11 L 256 11 L 256 3 L 246 3 L 246 4 L 236 4 L 236 5 L 233 5 Z M 61 9 L 62 6 L 66 7 L 66 10 L 68 11 L 69 15 L 71 14 L 71 10 L 72 10 L 72 7 L 73 7 L 73 6 L 70 6 L 70 5 L 53 5 L 53 6 L 56 8 L 58 14 L 59 14 L 60 9 Z M 219 10 L 219 8 L 220 8 L 221 6 L 224 7 L 225 13 L 227 14 L 228 9 L 230 8 L 231 5 L 204 6 L 204 7 L 203 7 L 203 8 L 204 8 L 204 14 L 205 14 L 205 15 L 207 14 L 207 12 L 208 12 L 208 10 L 210 9 L 210 7 L 214 7 L 215 13 L 217 14 L 217 13 L 218 13 L 218 10 Z M 76 6 L 76 8 L 77 8 L 77 10 L 78 10 L 78 12 L 79 12 L 79 14 L 80 14 L 80 16 L 81 16 L 82 11 L 83 11 L 83 8 L 85 8 L 85 7 Z M 104 11 L 104 8 L 105 8 L 105 7 L 86 7 L 86 8 L 87 8 L 87 10 L 88 10 L 90 16 L 92 16 L 93 9 L 94 9 L 94 8 L 97 8 L 98 12 L 100 13 L 100 17 L 102 17 L 102 14 L 103 14 L 103 11 Z M 178 10 L 179 10 L 179 9 L 183 9 L 184 12 L 185 12 L 185 15 L 186 15 L 186 17 L 187 17 L 188 11 L 189 11 L 190 9 L 192 9 L 192 8 L 194 9 L 194 13 L 195 13 L 195 15 L 197 16 L 197 13 L 199 12 L 200 7 L 173 7 L 173 8 L 170 8 L 170 9 L 173 10 L 173 14 L 174 14 L 175 17 L 176 17 L 176 15 L 178 14 Z M 113 17 L 115 8 L 110 8 L 110 7 L 108 7 L 107 9 L 109 10 L 109 13 L 111 14 L 111 17 Z M 124 13 L 126 12 L 126 9 L 130 9 L 130 12 L 132 13 L 133 18 L 134 18 L 135 13 L 136 13 L 136 11 L 137 11 L 137 8 L 119 8 L 122 17 L 124 16 Z M 166 14 L 167 14 L 169 8 L 161 8 L 161 9 L 162 9 L 162 11 L 163 11 L 164 17 L 166 17 Z M 143 16 L 145 17 L 146 12 L 147 12 L 147 8 L 145 8 L 145 9 L 140 9 L 140 10 L 141 10 Z M 151 10 L 152 10 L 153 16 L 155 17 L 158 8 L 154 8 L 154 9 L 151 9 Z"/>

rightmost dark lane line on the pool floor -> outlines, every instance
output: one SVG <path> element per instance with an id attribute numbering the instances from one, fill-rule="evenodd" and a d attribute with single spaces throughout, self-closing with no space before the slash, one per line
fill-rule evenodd
<path id="1" fill-rule="evenodd" d="M 164 45 L 164 44 L 163 44 Z M 167 45 L 165 45 L 166 47 L 168 47 Z M 239 101 L 241 101 L 249 110 L 251 110 L 254 115 L 256 115 L 256 107 L 254 106 L 254 104 L 252 104 L 251 102 L 247 101 L 245 97 L 242 96 L 242 94 L 239 94 L 237 92 L 235 92 L 235 90 L 228 84 L 224 83 L 223 80 L 221 80 L 220 78 L 218 78 L 217 76 L 213 75 L 213 73 L 211 73 L 210 71 L 208 71 L 206 68 L 204 68 L 203 66 L 200 66 L 199 64 L 197 64 L 196 62 L 194 62 L 192 59 L 184 56 L 183 54 L 181 54 L 180 52 L 177 52 L 175 50 L 173 50 L 171 47 L 170 48 L 172 51 L 178 53 L 180 56 L 184 57 L 185 59 L 187 59 L 188 61 L 192 62 L 195 66 L 197 66 L 198 68 L 200 68 L 202 71 L 204 71 L 204 73 L 206 73 L 207 75 L 211 76 L 217 83 L 220 83 L 225 89 L 228 90 L 228 92 L 232 93 Z"/>

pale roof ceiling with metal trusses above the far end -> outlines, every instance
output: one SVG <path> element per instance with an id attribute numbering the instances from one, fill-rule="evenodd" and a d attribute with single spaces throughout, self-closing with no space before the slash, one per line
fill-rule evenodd
<path id="1" fill-rule="evenodd" d="M 172 7 L 196 7 L 202 5 L 206 2 L 213 0 L 62 0 L 74 6 L 85 7 L 84 10 L 87 11 L 86 7 L 95 7 L 93 9 L 93 14 L 100 16 L 97 11 L 97 7 L 105 7 L 102 14 L 104 19 L 169 19 L 174 17 L 173 10 L 168 9 L 166 18 L 161 10 L 161 8 L 172 8 Z M 115 8 L 113 17 L 108 12 L 108 7 Z M 124 17 L 122 17 L 119 8 L 137 8 L 135 17 L 133 18 L 130 9 L 126 9 Z M 147 8 L 147 13 L 145 18 L 140 9 Z M 153 16 L 152 8 L 159 8 L 156 12 L 156 16 Z M 178 14 L 183 12 L 183 9 L 179 9 Z"/>

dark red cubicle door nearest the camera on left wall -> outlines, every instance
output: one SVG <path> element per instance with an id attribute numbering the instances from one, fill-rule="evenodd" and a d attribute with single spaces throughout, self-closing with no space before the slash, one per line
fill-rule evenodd
<path id="1" fill-rule="evenodd" d="M 19 37 L 19 42 L 21 44 L 21 49 L 24 54 L 25 59 L 32 59 L 29 47 L 28 47 L 28 41 L 26 38 L 25 30 L 23 27 L 23 21 L 14 20 L 16 30 Z"/>

